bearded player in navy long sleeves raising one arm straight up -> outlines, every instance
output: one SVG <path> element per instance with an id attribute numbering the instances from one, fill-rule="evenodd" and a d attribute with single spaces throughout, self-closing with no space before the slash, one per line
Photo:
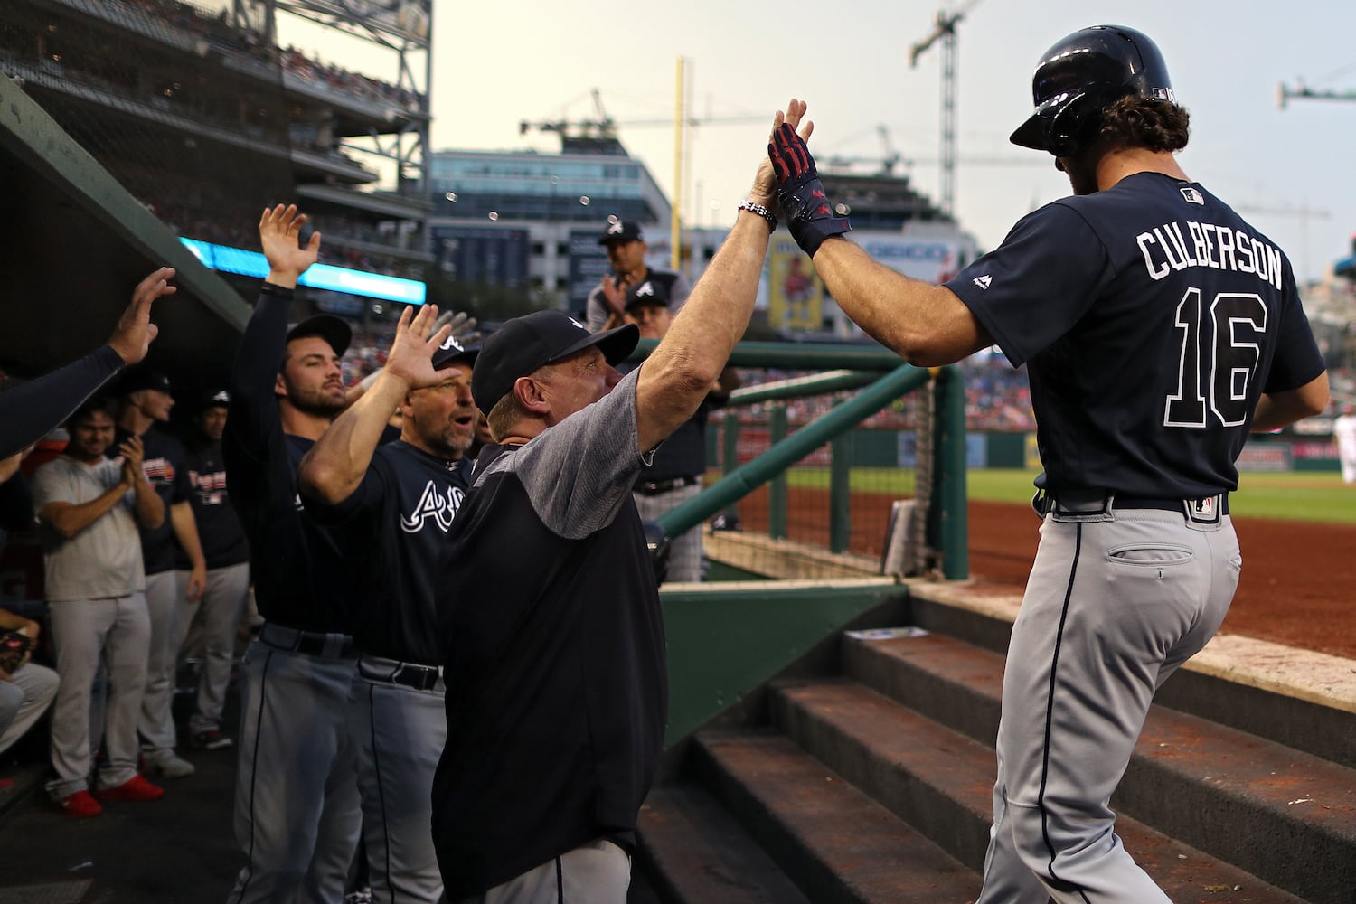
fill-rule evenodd
<path id="1" fill-rule="evenodd" d="M 236 354 L 221 442 L 266 619 L 241 665 L 235 823 L 245 865 L 231 904 L 340 900 L 362 825 L 348 740 L 354 595 L 338 538 L 297 493 L 302 455 L 344 408 L 351 331 L 328 314 L 287 328 L 297 279 L 320 251 L 320 233 L 298 245 L 302 224 L 282 205 L 259 221 L 270 272 Z"/>

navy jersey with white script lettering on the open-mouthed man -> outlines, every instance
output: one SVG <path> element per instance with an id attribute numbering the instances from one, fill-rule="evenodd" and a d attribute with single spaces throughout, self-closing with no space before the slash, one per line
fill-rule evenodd
<path id="1" fill-rule="evenodd" d="M 363 653 L 442 661 L 434 573 L 471 464 L 397 440 L 377 446 L 362 482 L 339 504 L 302 496 L 306 514 L 340 538 L 357 590 L 353 638 Z"/>

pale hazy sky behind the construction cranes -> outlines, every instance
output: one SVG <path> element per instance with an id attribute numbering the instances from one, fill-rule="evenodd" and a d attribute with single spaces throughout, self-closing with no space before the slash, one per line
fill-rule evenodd
<path id="1" fill-rule="evenodd" d="M 938 198 L 941 46 L 910 66 L 941 8 L 964 8 L 956 38 L 956 214 L 982 249 L 1029 210 L 1069 194 L 1048 155 L 1010 145 L 1032 107 L 1043 52 L 1090 24 L 1150 35 L 1192 112 L 1186 175 L 1287 251 L 1300 279 L 1352 253 L 1356 100 L 1292 99 L 1277 85 L 1356 96 L 1351 0 L 687 0 L 685 4 L 434 0 L 434 149 L 559 149 L 522 121 L 590 119 L 593 92 L 628 150 L 674 197 L 677 60 L 687 61 L 687 225 L 730 225 L 766 149 L 772 114 L 810 103 L 819 159 L 898 152 L 914 187 Z M 366 60 L 304 30 L 283 39 L 343 64 Z M 391 57 L 362 69 L 395 76 Z M 382 64 L 386 72 L 381 69 Z M 357 62 L 354 62 L 354 68 Z M 731 122 L 716 122 L 728 119 Z M 660 125 L 651 125 L 659 121 Z M 628 125 L 633 123 L 633 125 Z"/>

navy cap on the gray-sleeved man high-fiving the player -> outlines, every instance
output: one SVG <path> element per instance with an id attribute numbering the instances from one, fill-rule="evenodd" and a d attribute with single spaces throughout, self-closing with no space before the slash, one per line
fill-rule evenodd
<path id="1" fill-rule="evenodd" d="M 471 394 L 476 408 L 488 415 L 500 398 L 513 392 L 519 377 L 527 377 L 538 367 L 590 346 L 598 346 L 607 363 L 617 365 L 626 359 L 637 342 L 640 329 L 636 324 L 591 333 L 582 323 L 559 310 L 514 317 L 485 339 L 471 374 Z"/>

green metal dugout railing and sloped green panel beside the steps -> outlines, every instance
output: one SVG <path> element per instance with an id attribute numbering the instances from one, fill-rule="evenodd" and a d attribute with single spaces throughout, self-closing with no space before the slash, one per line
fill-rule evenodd
<path id="1" fill-rule="evenodd" d="M 655 347 L 644 340 L 632 355 Z M 928 543 L 941 553 L 942 575 L 970 576 L 965 525 L 965 394 L 952 367 L 923 370 L 902 363 L 880 347 L 833 344 L 740 343 L 730 358 L 740 367 L 822 369 L 812 377 L 739 389 L 730 405 L 772 403 L 772 445 L 739 465 L 738 420 L 727 415 L 725 474 L 701 495 L 664 514 L 670 537 L 701 525 L 763 482 L 772 485 L 773 525 L 785 535 L 786 470 L 830 443 L 831 538 L 846 549 L 850 436 L 862 420 L 909 392 L 934 393 L 933 488 Z M 782 403 L 843 389 L 860 389 L 843 403 L 789 432 Z M 780 488 L 780 489 L 778 489 Z M 778 511 L 780 510 L 780 511 Z M 669 645 L 670 707 L 666 744 L 674 745 L 739 702 L 866 613 L 907 598 L 891 576 L 833 581 L 730 581 L 660 588 Z"/>

